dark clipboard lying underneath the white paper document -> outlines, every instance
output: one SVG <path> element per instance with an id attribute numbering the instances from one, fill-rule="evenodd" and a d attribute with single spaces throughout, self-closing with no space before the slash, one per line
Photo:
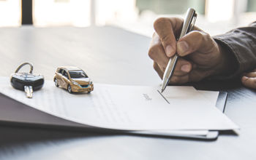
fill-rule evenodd
<path id="1" fill-rule="evenodd" d="M 227 101 L 227 92 L 219 92 L 216 106 L 224 113 Z M 78 124 L 57 116 L 44 113 L 28 105 L 13 100 L 6 95 L 0 93 L 0 125 L 15 127 L 33 127 L 41 129 L 61 129 L 74 130 L 79 132 L 98 132 L 104 134 L 124 134 L 124 135 L 140 135 L 150 137 L 172 137 L 197 140 L 217 140 L 219 131 L 209 131 L 207 135 L 176 135 L 159 132 L 127 132 L 115 129 L 99 129 L 97 127 L 86 127 L 84 124 Z M 29 116 L 27 116 L 29 115 Z"/>

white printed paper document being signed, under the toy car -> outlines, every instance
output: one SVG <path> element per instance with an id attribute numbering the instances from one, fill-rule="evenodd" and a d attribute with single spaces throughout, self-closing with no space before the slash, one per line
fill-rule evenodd
<path id="1" fill-rule="evenodd" d="M 0 78 L 2 94 L 39 111 L 92 127 L 158 132 L 201 130 L 201 134 L 208 129 L 238 129 L 210 103 L 211 98 L 193 87 L 167 87 L 163 96 L 157 89 L 94 84 L 90 94 L 69 94 L 55 87 L 53 81 L 45 81 L 44 87 L 29 99 L 10 86 L 10 79 Z"/>

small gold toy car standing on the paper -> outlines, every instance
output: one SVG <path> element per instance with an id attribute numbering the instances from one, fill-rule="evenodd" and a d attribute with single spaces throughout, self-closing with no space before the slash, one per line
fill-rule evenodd
<path id="1" fill-rule="evenodd" d="M 86 73 L 78 67 L 59 67 L 53 81 L 56 87 L 63 87 L 69 93 L 88 92 L 94 90 L 94 84 Z"/>

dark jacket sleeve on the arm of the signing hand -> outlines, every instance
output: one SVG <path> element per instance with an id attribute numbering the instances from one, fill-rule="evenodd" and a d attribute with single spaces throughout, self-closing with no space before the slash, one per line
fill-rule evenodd
<path id="1" fill-rule="evenodd" d="M 232 79 L 244 71 L 256 68 L 256 22 L 248 27 L 214 36 L 214 40 L 228 52 L 230 60 L 234 61 L 230 66 L 231 72 L 218 76 L 218 79 Z"/>

